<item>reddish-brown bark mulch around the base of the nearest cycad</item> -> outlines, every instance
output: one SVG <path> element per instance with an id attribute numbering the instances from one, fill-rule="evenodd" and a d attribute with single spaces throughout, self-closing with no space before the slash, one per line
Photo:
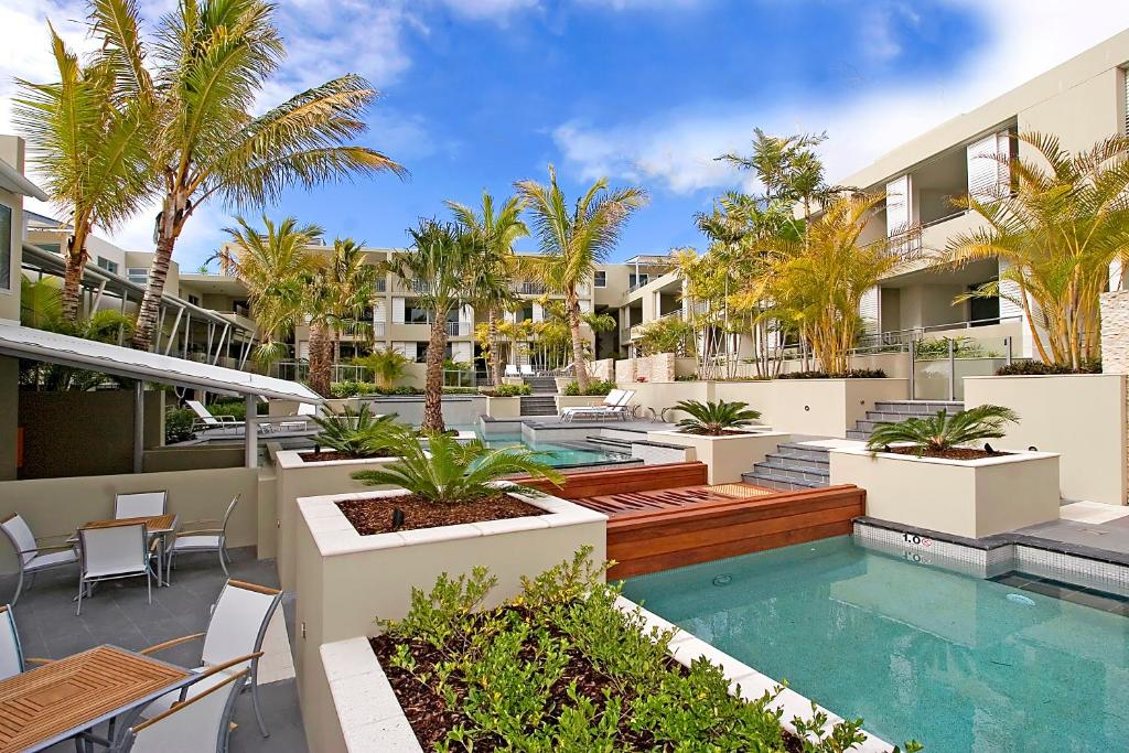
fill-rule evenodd
<path id="1" fill-rule="evenodd" d="M 474 502 L 456 505 L 437 504 L 414 494 L 404 494 L 402 497 L 348 499 L 338 502 L 338 507 L 357 528 L 357 533 L 362 536 L 391 533 L 393 531 L 392 511 L 395 509 L 404 513 L 404 523 L 395 531 L 415 531 L 458 525 L 460 523 L 548 515 L 540 507 L 534 507 L 504 493 Z"/>

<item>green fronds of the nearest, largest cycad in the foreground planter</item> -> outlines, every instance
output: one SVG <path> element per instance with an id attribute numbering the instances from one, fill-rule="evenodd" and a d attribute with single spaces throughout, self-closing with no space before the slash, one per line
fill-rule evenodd
<path id="1" fill-rule="evenodd" d="M 383 469 L 358 471 L 352 478 L 366 485 L 401 487 L 435 505 L 466 505 L 496 497 L 502 491 L 496 482 L 515 474 L 554 484 L 563 481 L 559 471 L 524 447 L 491 449 L 478 440 L 461 444 L 452 436 L 432 434 L 426 437 L 425 449 L 423 439 L 399 426 L 386 429 L 385 440 L 395 446 L 399 459 Z M 522 484 L 508 490 L 544 493 Z"/>

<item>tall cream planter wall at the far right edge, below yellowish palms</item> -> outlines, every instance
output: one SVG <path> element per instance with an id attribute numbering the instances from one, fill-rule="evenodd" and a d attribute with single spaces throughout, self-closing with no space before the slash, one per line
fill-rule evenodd
<path id="1" fill-rule="evenodd" d="M 1062 455 L 1062 496 L 1124 505 L 1126 377 L 1121 374 L 965 377 L 964 404 L 1005 405 L 1019 414 L 1006 427 L 1013 447 Z"/>

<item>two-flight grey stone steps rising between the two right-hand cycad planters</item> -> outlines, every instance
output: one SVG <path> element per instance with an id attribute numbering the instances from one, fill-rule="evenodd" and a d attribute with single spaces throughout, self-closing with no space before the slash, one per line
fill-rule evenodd
<path id="1" fill-rule="evenodd" d="M 911 417 L 933 415 L 939 410 L 949 413 L 963 410 L 964 404 L 949 401 L 890 400 L 874 404 L 866 418 L 848 429 L 848 439 L 866 441 L 879 423 L 896 423 Z M 741 478 L 746 483 L 780 491 L 819 489 L 831 481 L 831 455 L 826 447 L 804 443 L 786 441 L 777 445 L 777 452 L 769 453 L 764 461 L 753 465 Z"/>

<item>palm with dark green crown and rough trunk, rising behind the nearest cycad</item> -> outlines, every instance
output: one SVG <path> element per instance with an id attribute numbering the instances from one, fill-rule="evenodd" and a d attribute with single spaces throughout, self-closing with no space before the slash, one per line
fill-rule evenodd
<path id="1" fill-rule="evenodd" d="M 393 255 L 387 266 L 415 291 L 419 305 L 430 312 L 431 336 L 427 349 L 427 380 L 423 387 L 425 431 L 444 431 L 443 359 L 447 348 L 447 315 L 467 298 L 480 257 L 480 238 L 454 225 L 420 220 L 408 231 L 412 248 Z"/>

